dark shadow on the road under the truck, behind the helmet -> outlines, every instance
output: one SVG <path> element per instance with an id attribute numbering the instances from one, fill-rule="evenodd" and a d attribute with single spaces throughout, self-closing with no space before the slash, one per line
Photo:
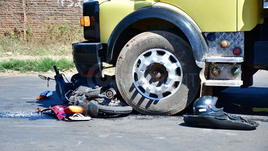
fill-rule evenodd
<path id="1" fill-rule="evenodd" d="M 224 112 L 231 114 L 268 116 L 268 88 L 229 87 L 214 94 L 218 97 L 216 107 L 224 107 Z"/>

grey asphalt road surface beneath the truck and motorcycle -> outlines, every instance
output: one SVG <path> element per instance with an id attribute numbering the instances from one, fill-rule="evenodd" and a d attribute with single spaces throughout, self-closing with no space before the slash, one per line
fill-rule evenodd
<path id="1" fill-rule="evenodd" d="M 47 88 L 37 75 L 0 76 L 0 150 L 267 150 L 268 112 L 249 110 L 268 108 L 267 75 L 255 74 L 247 89 L 229 87 L 215 94 L 217 107 L 258 121 L 249 131 L 188 127 L 181 114 L 58 121 L 35 113 L 38 107 L 62 103 L 55 92 L 36 100 L 46 90 L 55 91 L 54 81 Z"/>

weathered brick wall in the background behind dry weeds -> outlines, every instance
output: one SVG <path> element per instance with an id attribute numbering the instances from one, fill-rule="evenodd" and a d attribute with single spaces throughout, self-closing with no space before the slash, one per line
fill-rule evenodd
<path id="1" fill-rule="evenodd" d="M 48 19 L 55 25 L 66 22 L 75 24 L 77 28 L 83 2 L 84 0 L 0 0 L 0 34 L 4 34 L 7 29 L 19 29 L 24 36 L 27 23 L 34 34 L 38 34 Z"/>

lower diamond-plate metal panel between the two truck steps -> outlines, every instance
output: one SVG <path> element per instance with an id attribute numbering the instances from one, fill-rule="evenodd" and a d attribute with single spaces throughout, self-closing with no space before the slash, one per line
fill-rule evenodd
<path id="1" fill-rule="evenodd" d="M 218 76 L 214 76 L 211 73 L 211 70 L 214 67 L 218 67 L 220 69 L 220 74 Z M 234 67 L 238 67 L 240 70 L 237 76 L 233 76 L 231 74 L 231 70 Z M 210 80 L 241 80 L 241 64 L 212 64 L 209 65 L 209 68 Z"/>

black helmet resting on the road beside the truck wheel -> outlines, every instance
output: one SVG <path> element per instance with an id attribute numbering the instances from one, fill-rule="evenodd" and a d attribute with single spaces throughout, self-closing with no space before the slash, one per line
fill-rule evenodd
<path id="1" fill-rule="evenodd" d="M 202 96 L 194 102 L 194 115 L 207 115 L 222 117 L 224 116 L 223 107 L 216 108 L 218 98 L 212 96 Z"/>

